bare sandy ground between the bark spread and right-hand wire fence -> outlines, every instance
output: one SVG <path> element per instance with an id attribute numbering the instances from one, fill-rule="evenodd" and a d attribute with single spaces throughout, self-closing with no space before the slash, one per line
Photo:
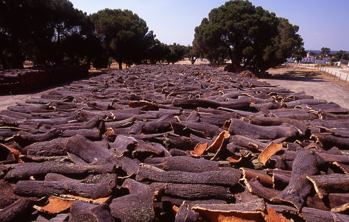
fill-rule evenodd
<path id="1" fill-rule="evenodd" d="M 295 92 L 304 91 L 306 95 L 312 95 L 315 99 L 325 99 L 349 109 L 349 88 L 325 79 L 324 75 L 311 69 L 277 67 L 269 69 L 269 73 L 273 74 L 272 78 L 259 81 L 266 81 Z"/>

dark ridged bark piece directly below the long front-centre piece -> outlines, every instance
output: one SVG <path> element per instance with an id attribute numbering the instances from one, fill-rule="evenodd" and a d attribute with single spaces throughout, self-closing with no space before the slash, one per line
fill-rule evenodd
<path id="1" fill-rule="evenodd" d="M 150 186 L 157 186 L 161 183 L 152 183 Z M 232 198 L 232 194 L 229 188 L 222 186 L 214 186 L 207 184 L 173 184 L 166 183 L 165 193 L 175 195 L 181 198 L 188 199 L 200 199 L 200 198 L 211 198 L 211 199 L 223 199 L 229 200 Z"/>

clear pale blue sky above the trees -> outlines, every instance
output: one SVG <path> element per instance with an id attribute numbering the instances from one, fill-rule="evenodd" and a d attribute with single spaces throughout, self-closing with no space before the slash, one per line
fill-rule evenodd
<path id="1" fill-rule="evenodd" d="M 104 8 L 129 9 L 147 22 L 165 44 L 192 45 L 194 28 L 223 0 L 70 0 L 75 8 L 92 14 Z M 250 0 L 299 26 L 306 50 L 349 51 L 349 0 Z"/>

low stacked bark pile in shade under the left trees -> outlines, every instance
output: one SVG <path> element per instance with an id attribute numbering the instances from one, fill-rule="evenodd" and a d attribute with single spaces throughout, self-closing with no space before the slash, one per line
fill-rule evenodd
<path id="1" fill-rule="evenodd" d="M 0 92 L 29 91 L 88 75 L 84 66 L 6 69 L 0 72 Z"/>

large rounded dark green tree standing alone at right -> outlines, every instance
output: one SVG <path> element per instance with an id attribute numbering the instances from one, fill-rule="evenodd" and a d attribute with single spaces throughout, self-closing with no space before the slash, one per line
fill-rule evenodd
<path id="1" fill-rule="evenodd" d="M 206 58 L 217 65 L 231 60 L 233 65 L 265 71 L 291 56 L 306 55 L 298 29 L 250 1 L 227 1 L 195 28 L 191 59 Z"/>

